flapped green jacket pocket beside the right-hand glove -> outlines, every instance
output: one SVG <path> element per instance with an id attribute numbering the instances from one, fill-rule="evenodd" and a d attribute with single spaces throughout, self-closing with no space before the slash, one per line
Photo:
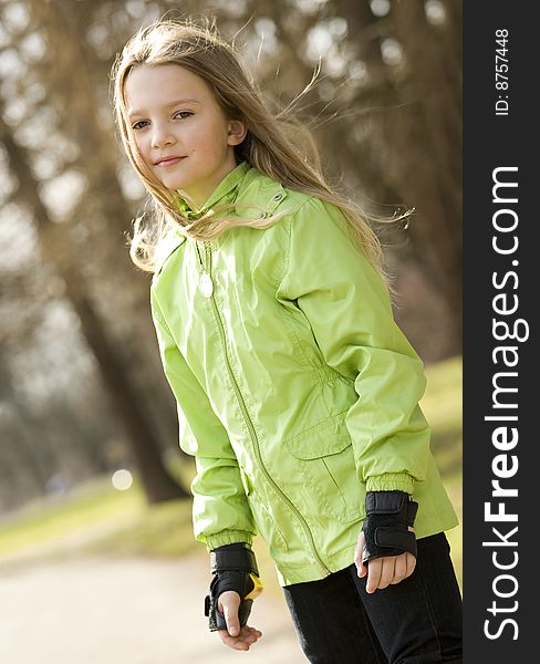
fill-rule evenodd
<path id="1" fill-rule="evenodd" d="M 356 474 L 345 414 L 289 438 L 284 446 L 302 479 L 302 502 L 309 516 L 350 523 L 365 517 L 365 485 Z"/>

